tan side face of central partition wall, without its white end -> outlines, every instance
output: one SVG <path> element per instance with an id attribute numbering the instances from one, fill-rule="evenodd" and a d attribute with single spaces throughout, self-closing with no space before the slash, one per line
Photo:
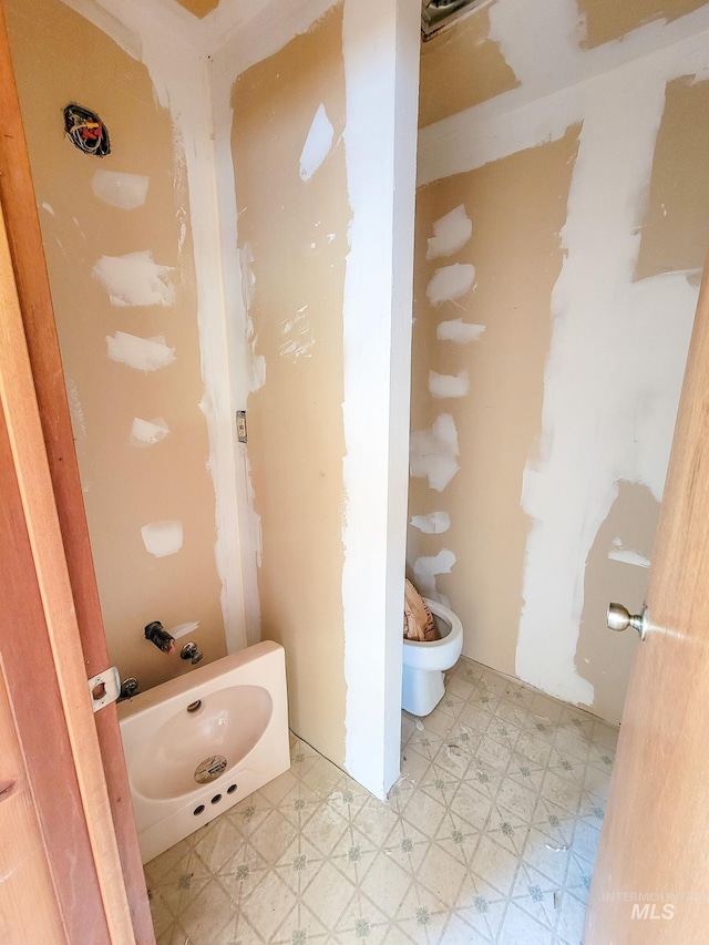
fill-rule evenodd
<path id="1" fill-rule="evenodd" d="M 254 352 L 265 359 L 265 383 L 248 400 L 263 533 L 261 631 L 286 648 L 294 730 L 340 764 L 342 294 L 350 218 L 341 33 L 340 4 L 240 75 L 232 138 Z M 321 105 L 332 146 L 304 179 L 301 152 Z"/>

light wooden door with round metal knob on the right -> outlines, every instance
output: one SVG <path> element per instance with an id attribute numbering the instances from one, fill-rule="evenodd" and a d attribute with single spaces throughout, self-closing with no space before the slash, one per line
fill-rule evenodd
<path id="1" fill-rule="evenodd" d="M 650 629 L 623 715 L 585 945 L 709 939 L 708 270 L 655 541 Z"/>

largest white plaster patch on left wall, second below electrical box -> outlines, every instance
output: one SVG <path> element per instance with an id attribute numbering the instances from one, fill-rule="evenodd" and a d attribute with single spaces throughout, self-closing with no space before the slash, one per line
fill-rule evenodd
<path id="1" fill-rule="evenodd" d="M 153 254 L 145 250 L 125 256 L 102 256 L 92 275 L 105 286 L 111 305 L 169 306 L 175 299 L 171 271 L 169 266 L 154 263 Z"/>

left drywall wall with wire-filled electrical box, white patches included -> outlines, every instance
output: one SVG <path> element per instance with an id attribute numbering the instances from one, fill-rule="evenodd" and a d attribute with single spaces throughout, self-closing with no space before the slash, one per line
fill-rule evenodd
<path id="1" fill-rule="evenodd" d="M 216 285 L 206 273 L 209 203 L 196 213 L 193 203 L 195 164 L 209 170 L 198 141 L 209 141 L 199 119 L 206 72 L 175 55 L 175 39 L 181 74 L 167 95 L 177 66 L 155 52 L 147 13 L 76 6 L 86 16 L 58 0 L 7 12 L 109 649 L 145 688 L 189 668 L 145 641 L 148 622 L 189 634 L 207 660 L 226 651 L 225 617 L 232 641 L 243 633 L 238 588 L 225 592 L 224 579 L 238 548 L 217 530 L 215 482 L 224 485 L 228 463 L 215 444 L 215 401 L 227 417 L 230 408 L 228 374 L 208 376 L 210 345 L 220 357 L 225 347 L 218 325 L 209 339 L 204 323 Z M 173 25 L 165 21 L 161 41 Z M 69 142 L 70 102 L 99 113 L 111 154 Z"/>

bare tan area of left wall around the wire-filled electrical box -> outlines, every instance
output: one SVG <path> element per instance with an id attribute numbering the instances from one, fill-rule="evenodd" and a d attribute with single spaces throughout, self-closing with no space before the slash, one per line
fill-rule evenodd
<path id="1" fill-rule="evenodd" d="M 147 688 L 189 668 L 145 641 L 151 620 L 198 622 L 188 638 L 205 659 L 225 653 L 184 167 L 143 65 L 59 0 L 6 8 L 109 650 L 122 677 Z M 106 123 L 110 155 L 83 154 L 66 140 L 70 102 Z M 135 179 L 113 174 L 147 178 L 145 202 L 125 208 Z M 96 195 L 105 197 L 106 183 L 123 205 Z M 112 283 L 113 294 L 133 304 L 113 305 L 94 267 L 129 254 L 150 257 L 125 263 L 125 285 Z M 106 339 L 115 332 L 164 337 L 174 360 L 156 370 L 111 360 Z M 135 445 L 134 418 L 162 418 L 169 432 Z M 158 557 L 142 528 L 162 522 L 179 522 L 183 543 Z"/>

